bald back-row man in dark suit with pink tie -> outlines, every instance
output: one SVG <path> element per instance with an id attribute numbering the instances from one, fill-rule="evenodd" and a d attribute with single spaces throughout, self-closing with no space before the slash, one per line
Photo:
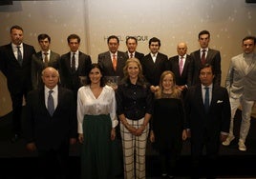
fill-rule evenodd
<path id="1" fill-rule="evenodd" d="M 182 96 L 185 96 L 187 90 L 188 70 L 190 70 L 191 57 L 186 54 L 187 45 L 181 42 L 177 45 L 178 55 L 169 58 L 170 70 L 173 71 L 178 89 L 182 91 Z"/>

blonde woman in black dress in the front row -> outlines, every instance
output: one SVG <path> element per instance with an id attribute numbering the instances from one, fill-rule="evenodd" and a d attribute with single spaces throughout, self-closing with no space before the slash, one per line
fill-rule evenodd
<path id="1" fill-rule="evenodd" d="M 184 110 L 181 90 L 176 88 L 174 73 L 165 70 L 160 76 L 160 89 L 155 92 L 150 140 L 160 153 L 161 175 L 173 177 L 174 168 L 185 140 Z"/>

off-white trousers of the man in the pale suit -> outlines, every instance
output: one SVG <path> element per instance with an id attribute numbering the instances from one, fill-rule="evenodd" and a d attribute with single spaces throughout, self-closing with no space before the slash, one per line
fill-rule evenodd
<path id="1" fill-rule="evenodd" d="M 251 119 L 251 110 L 254 105 L 254 101 L 245 100 L 242 97 L 234 99 L 229 98 L 230 106 L 231 106 L 231 120 L 230 120 L 230 128 L 229 128 L 229 135 L 234 135 L 234 117 L 236 114 L 236 110 L 241 105 L 242 107 L 242 121 L 240 127 L 240 139 L 244 141 L 246 140 L 249 128 L 250 128 L 250 119 Z"/>

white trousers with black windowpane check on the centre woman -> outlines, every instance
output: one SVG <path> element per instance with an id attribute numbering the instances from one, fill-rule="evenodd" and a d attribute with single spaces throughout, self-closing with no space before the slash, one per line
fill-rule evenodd
<path id="1" fill-rule="evenodd" d="M 139 129 L 139 127 L 143 124 L 144 118 L 139 119 L 138 121 L 130 119 L 126 120 L 130 126 Z M 149 124 L 143 130 L 140 136 L 136 136 L 126 129 L 122 123 L 120 123 L 125 179 L 146 178 L 145 155 L 148 132 Z"/>

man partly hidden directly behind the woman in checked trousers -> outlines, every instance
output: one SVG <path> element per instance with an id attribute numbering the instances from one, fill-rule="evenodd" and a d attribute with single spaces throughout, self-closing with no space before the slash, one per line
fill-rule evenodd
<path id="1" fill-rule="evenodd" d="M 144 54 L 137 51 L 138 41 L 137 38 L 134 36 L 129 36 L 126 38 L 126 47 L 127 47 L 127 54 L 129 58 L 136 57 L 141 61 L 141 59 L 144 57 Z"/>

